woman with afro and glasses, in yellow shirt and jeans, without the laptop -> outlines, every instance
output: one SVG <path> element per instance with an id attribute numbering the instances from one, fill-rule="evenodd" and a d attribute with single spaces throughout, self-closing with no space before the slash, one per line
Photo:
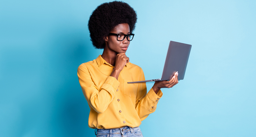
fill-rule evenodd
<path id="1" fill-rule="evenodd" d="M 78 68 L 78 78 L 90 107 L 88 125 L 97 136 L 142 136 L 139 125 L 156 110 L 161 88 L 178 83 L 178 73 L 169 81 L 155 82 L 147 93 L 142 69 L 125 55 L 134 34 L 136 12 L 124 2 L 98 6 L 89 19 L 93 46 L 104 49 L 97 59 Z"/>

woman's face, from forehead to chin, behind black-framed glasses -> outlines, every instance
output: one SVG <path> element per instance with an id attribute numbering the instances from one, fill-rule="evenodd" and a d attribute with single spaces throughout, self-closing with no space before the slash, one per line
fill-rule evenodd
<path id="1" fill-rule="evenodd" d="M 117 25 L 110 33 L 122 33 L 122 34 L 130 34 L 130 27 L 128 25 L 128 23 L 123 23 L 123 24 L 119 24 Z M 130 41 L 127 40 L 127 38 L 125 38 L 123 41 L 118 41 L 117 40 L 117 36 L 107 36 L 106 39 L 106 46 L 105 47 L 113 52 L 116 53 L 126 53 Z"/>

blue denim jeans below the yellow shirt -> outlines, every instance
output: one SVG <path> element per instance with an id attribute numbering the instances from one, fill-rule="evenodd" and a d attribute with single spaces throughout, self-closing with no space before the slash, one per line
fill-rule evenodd
<path id="1" fill-rule="evenodd" d="M 96 137 L 143 137 L 140 127 L 122 127 L 113 129 L 96 129 Z"/>

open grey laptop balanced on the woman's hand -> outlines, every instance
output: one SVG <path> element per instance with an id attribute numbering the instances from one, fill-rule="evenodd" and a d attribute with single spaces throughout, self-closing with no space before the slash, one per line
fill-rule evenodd
<path id="1" fill-rule="evenodd" d="M 170 41 L 167 56 L 165 59 L 162 78 L 133 81 L 127 83 L 144 83 L 150 81 L 170 80 L 176 71 L 178 71 L 178 80 L 184 79 L 185 71 L 188 64 L 188 58 L 192 45 Z"/>

